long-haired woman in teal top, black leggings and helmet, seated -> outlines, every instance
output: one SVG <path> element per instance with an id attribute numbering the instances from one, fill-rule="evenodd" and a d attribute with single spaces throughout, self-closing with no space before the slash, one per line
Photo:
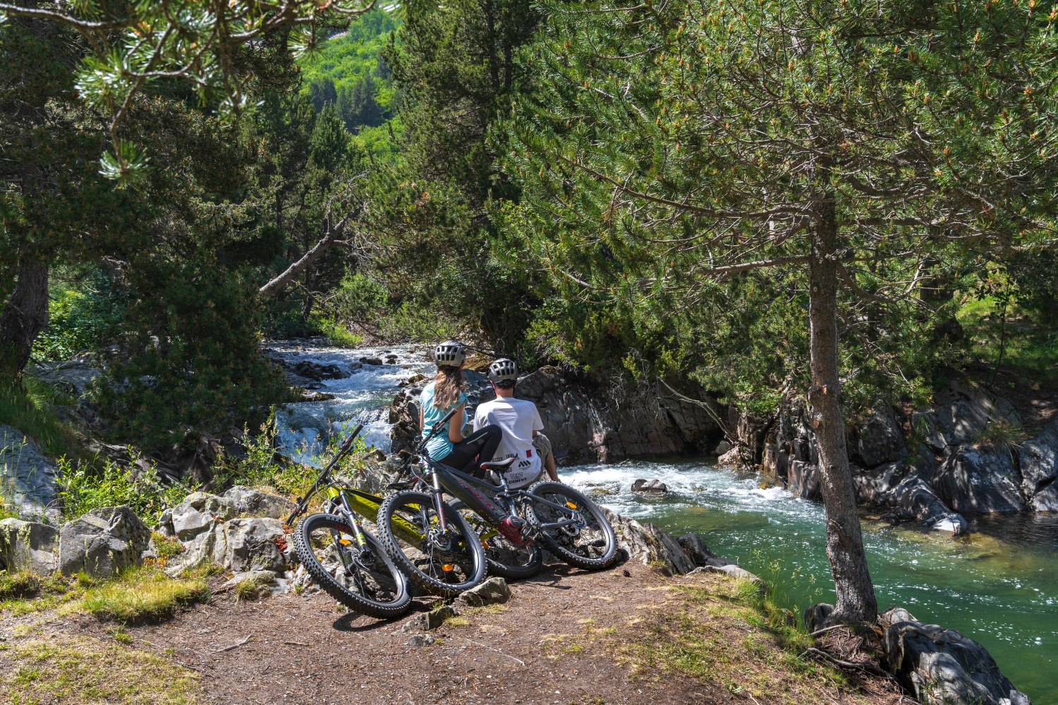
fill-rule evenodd
<path id="1" fill-rule="evenodd" d="M 467 392 L 463 391 L 462 367 L 466 359 L 467 351 L 455 340 L 445 340 L 434 349 L 437 376 L 419 396 L 419 426 L 423 434 L 430 433 L 434 424 L 455 407 L 448 429 L 438 429 L 426 444 L 426 452 L 439 463 L 480 477 L 477 459 L 488 462 L 495 458 L 504 432 L 499 426 L 491 425 L 463 437 Z"/>

